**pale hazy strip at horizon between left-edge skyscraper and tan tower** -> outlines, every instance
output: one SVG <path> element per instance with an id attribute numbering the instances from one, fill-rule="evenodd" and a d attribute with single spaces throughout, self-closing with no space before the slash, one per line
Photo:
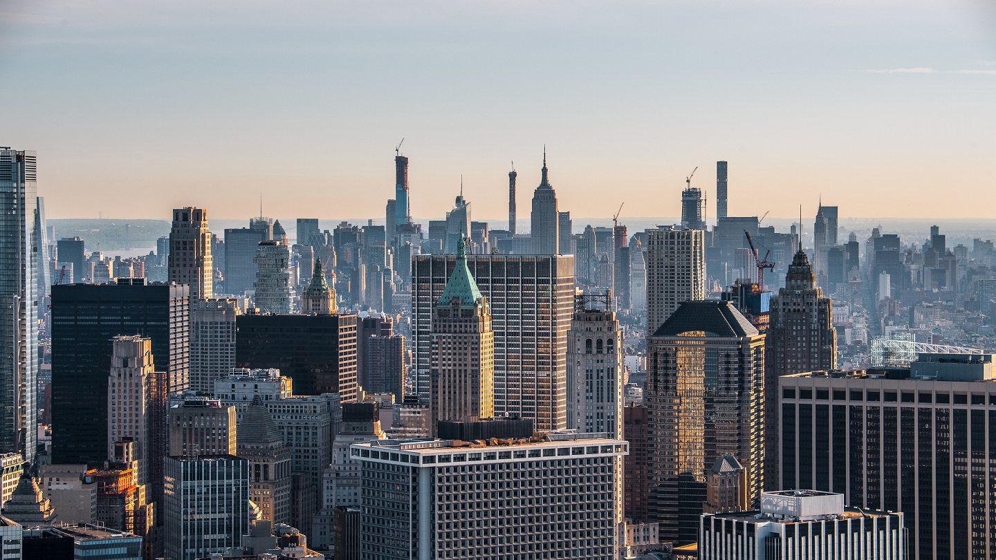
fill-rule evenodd
<path id="1" fill-rule="evenodd" d="M 154 248 L 155 240 L 168 237 L 170 223 L 149 219 L 50 219 L 56 239 L 82 237 L 87 250 L 115 251 Z M 98 246 L 98 244 L 100 244 Z"/>

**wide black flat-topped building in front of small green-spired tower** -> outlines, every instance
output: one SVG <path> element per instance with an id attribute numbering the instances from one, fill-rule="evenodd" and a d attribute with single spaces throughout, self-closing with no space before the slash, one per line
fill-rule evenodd
<path id="1" fill-rule="evenodd" d="M 241 315 L 235 324 L 236 367 L 277 368 L 295 395 L 357 399 L 356 315 Z"/>

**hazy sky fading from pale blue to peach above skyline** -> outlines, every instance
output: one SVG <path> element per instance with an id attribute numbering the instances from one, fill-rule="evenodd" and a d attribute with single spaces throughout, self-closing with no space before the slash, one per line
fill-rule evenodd
<path id="1" fill-rule="evenodd" d="M 36 149 L 50 217 L 383 218 L 463 174 L 562 210 L 992 217 L 996 7 L 984 0 L 0 0 L 0 144 Z M 700 180 L 699 180 L 700 179 Z M 809 220 L 809 217 L 807 218 Z M 497 224 L 495 224 L 497 225 Z"/>

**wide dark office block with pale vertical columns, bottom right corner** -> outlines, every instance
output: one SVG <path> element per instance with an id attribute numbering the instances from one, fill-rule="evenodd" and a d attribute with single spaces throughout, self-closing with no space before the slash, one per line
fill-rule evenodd
<path id="1" fill-rule="evenodd" d="M 902 511 L 910 558 L 996 556 L 993 355 L 779 379 L 780 483 Z"/>

